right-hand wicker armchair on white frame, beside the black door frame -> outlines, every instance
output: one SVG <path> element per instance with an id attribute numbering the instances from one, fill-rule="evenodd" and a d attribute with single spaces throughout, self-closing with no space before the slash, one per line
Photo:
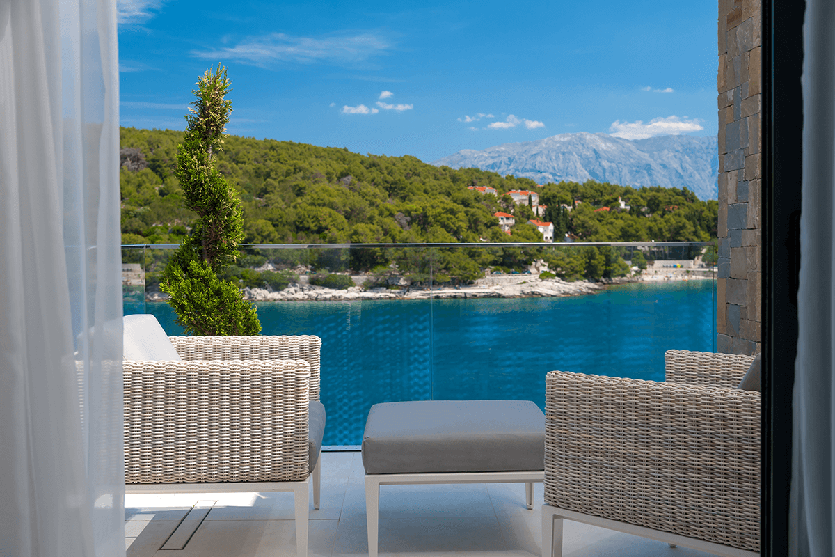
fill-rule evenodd
<path id="1" fill-rule="evenodd" d="M 760 549 L 753 357 L 672 350 L 666 382 L 549 372 L 543 555 L 575 520 L 720 555 Z"/>

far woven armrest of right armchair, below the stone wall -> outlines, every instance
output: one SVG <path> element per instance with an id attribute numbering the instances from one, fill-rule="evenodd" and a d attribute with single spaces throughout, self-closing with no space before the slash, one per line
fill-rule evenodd
<path id="1" fill-rule="evenodd" d="M 668 350 L 664 355 L 666 381 L 705 387 L 736 388 L 753 356 Z"/>

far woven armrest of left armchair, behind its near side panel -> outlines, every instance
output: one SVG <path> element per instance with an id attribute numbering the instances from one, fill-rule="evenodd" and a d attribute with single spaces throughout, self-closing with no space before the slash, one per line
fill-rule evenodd
<path id="1" fill-rule="evenodd" d="M 311 367 L 311 400 L 319 400 L 319 337 L 281 335 L 169 338 L 184 360 L 304 360 Z"/>

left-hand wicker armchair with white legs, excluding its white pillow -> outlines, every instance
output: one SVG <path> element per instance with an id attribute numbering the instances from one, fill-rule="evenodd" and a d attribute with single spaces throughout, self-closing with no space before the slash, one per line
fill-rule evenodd
<path id="1" fill-rule="evenodd" d="M 321 484 L 321 340 L 169 340 L 181 361 L 123 362 L 126 493 L 293 491 L 305 556 L 311 463 L 315 509 Z"/>

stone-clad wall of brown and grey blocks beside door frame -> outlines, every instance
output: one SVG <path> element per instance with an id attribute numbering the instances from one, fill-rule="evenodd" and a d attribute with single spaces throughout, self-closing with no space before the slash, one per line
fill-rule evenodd
<path id="1" fill-rule="evenodd" d="M 716 347 L 761 342 L 761 0 L 719 1 L 719 268 Z"/>

